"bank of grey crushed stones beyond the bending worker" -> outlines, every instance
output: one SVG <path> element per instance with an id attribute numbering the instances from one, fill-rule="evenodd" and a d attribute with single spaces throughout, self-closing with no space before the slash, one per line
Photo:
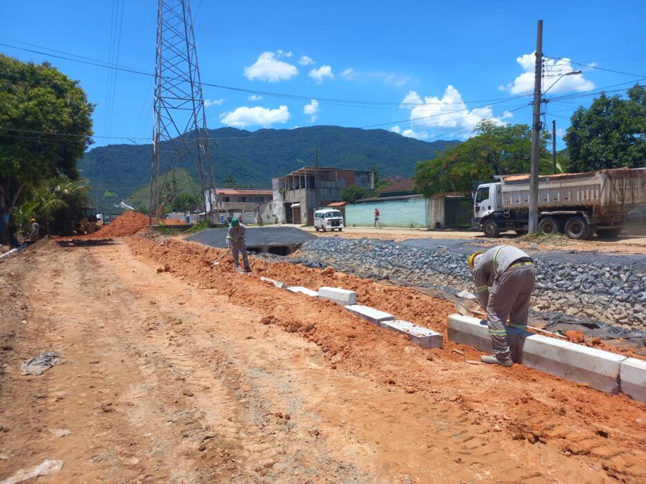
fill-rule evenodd
<path id="1" fill-rule="evenodd" d="M 463 252 L 449 247 L 414 248 L 375 239 L 321 237 L 300 249 L 300 259 L 365 277 L 391 279 L 457 293 L 475 292 Z M 646 271 L 609 264 L 564 263 L 535 258 L 532 308 L 646 329 Z"/>

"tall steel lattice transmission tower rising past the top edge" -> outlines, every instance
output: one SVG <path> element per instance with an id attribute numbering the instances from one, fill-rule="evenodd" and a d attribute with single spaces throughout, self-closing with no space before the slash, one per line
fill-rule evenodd
<path id="1" fill-rule="evenodd" d="M 213 165 L 189 0 L 159 0 L 157 8 L 152 151 L 150 223 L 174 196 L 161 179 L 163 170 L 188 169 L 196 162 L 201 183 L 199 200 L 206 211 L 206 190 L 214 189 Z M 197 196 L 195 191 L 193 194 Z"/>

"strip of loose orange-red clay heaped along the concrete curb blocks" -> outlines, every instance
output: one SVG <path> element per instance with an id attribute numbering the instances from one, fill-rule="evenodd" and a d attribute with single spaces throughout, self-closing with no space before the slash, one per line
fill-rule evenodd
<path id="1" fill-rule="evenodd" d="M 445 335 L 443 349 L 422 350 L 406 337 L 383 331 L 330 301 L 275 288 L 258 277 L 233 270 L 231 259 L 210 268 L 223 250 L 173 239 L 129 239 L 132 252 L 199 288 L 227 295 L 233 304 L 255 308 L 275 324 L 321 347 L 332 368 L 366 375 L 376 382 L 422 392 L 436 402 L 454 404 L 472 425 L 535 445 L 556 445 L 568 456 L 582 456 L 606 477 L 646 482 L 646 404 L 610 395 L 526 366 L 511 369 L 468 364 L 482 354 L 448 340 L 447 315 L 454 306 L 412 288 L 382 286 L 334 270 L 316 270 L 251 261 L 266 274 L 309 288 L 342 286 L 356 290 L 366 304 Z M 226 260 L 226 259 L 223 259 Z M 459 349 L 460 355 L 452 350 Z"/>

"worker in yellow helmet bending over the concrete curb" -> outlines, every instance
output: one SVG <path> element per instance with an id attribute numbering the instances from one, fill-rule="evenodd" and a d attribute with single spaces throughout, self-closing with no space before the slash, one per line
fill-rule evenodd
<path id="1" fill-rule="evenodd" d="M 534 292 L 534 261 L 511 245 L 498 245 L 484 254 L 474 252 L 468 261 L 474 273 L 476 295 L 487 312 L 494 346 L 494 355 L 480 359 L 485 363 L 512 366 L 506 322 L 509 318 L 512 328 L 527 328 L 530 299 Z"/>

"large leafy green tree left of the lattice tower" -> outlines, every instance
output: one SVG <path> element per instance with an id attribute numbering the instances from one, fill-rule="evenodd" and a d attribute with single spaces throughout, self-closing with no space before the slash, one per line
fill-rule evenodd
<path id="1" fill-rule="evenodd" d="M 46 178 L 78 178 L 76 160 L 91 145 L 94 104 L 47 62 L 0 54 L 0 214 Z"/>

